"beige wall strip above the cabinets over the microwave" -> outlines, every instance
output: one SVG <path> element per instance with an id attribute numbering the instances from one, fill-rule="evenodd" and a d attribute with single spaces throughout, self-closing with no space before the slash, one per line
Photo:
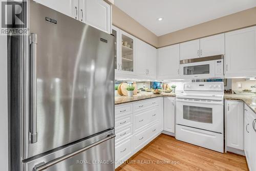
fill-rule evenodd
<path id="1" fill-rule="evenodd" d="M 184 21 L 185 22 L 185 21 Z M 256 25 L 256 7 L 158 37 L 158 47 Z"/>

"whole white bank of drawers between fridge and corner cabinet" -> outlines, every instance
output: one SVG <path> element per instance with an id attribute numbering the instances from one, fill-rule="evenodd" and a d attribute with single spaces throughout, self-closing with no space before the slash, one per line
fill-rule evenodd
<path id="1" fill-rule="evenodd" d="M 115 106 L 115 167 L 161 133 L 162 102 L 160 97 Z"/>

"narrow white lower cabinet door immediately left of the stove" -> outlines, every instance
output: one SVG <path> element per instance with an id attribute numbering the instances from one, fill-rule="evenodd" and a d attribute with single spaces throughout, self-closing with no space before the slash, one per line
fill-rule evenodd
<path id="1" fill-rule="evenodd" d="M 164 97 L 164 127 L 163 130 L 175 133 L 175 98 L 174 97 Z"/>

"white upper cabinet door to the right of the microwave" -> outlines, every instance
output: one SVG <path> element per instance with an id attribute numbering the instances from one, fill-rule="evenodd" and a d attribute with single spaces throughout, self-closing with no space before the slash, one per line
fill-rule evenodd
<path id="1" fill-rule="evenodd" d="M 256 26 L 225 33 L 225 77 L 256 75 Z"/>

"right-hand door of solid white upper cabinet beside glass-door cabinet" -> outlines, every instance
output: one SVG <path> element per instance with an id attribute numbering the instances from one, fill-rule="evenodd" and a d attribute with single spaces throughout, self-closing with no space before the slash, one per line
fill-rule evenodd
<path id="1" fill-rule="evenodd" d="M 144 65 L 147 65 L 147 76 L 151 79 L 157 78 L 157 49 L 146 44 L 147 58 Z"/>

